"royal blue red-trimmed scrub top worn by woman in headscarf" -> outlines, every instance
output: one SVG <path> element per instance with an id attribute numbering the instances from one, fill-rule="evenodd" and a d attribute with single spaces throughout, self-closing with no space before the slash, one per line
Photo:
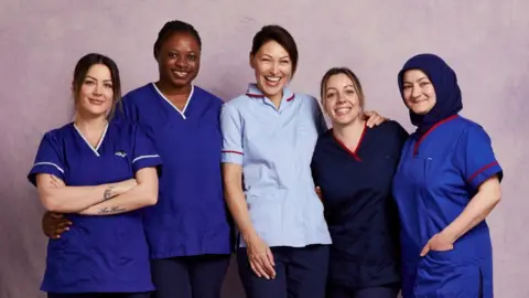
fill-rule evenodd
<path id="1" fill-rule="evenodd" d="M 393 179 L 402 245 L 403 297 L 493 297 L 493 256 L 487 223 L 477 224 L 447 252 L 428 241 L 452 223 L 490 177 L 503 178 L 490 138 L 458 115 L 422 138 L 409 138 Z M 483 296 L 478 296 L 483 292 Z"/>

